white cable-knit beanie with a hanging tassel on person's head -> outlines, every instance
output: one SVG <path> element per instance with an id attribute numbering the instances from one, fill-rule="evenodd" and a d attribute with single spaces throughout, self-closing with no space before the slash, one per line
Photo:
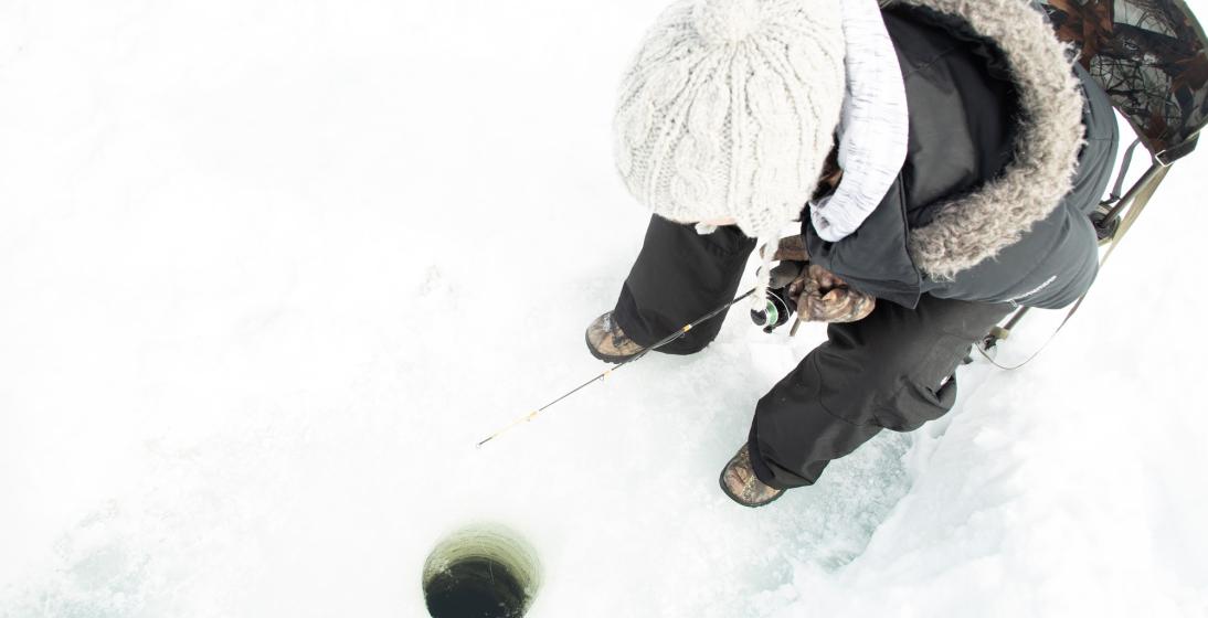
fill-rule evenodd
<path id="1" fill-rule="evenodd" d="M 680 0 L 622 82 L 616 165 L 629 192 L 663 218 L 733 218 L 769 244 L 756 304 L 834 146 L 843 53 L 837 0 Z"/>

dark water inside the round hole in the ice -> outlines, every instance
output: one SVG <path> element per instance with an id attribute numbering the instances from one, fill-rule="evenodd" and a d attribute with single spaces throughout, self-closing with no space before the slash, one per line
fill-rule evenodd
<path id="1" fill-rule="evenodd" d="M 424 588 L 432 618 L 521 618 L 527 595 L 506 567 L 486 558 L 461 560 Z"/>

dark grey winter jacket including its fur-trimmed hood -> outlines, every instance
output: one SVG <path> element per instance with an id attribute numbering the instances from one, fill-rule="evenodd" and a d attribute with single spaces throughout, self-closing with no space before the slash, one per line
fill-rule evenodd
<path id="1" fill-rule="evenodd" d="M 1029 0 L 882 11 L 907 94 L 906 163 L 855 233 L 811 261 L 907 308 L 922 295 L 1058 308 L 1094 280 L 1088 215 L 1111 176 L 1111 103 Z"/>

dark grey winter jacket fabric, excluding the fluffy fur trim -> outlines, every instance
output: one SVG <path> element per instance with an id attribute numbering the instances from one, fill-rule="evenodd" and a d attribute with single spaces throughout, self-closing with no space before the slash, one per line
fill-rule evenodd
<path id="1" fill-rule="evenodd" d="M 949 279 L 931 276 L 916 266 L 908 235 L 943 203 L 980 191 L 1003 173 L 1016 156 L 1018 123 L 1027 111 L 1001 49 L 965 22 L 913 6 L 883 14 L 906 84 L 906 163 L 848 238 L 827 243 L 802 217 L 811 260 L 864 292 L 908 308 L 923 293 L 1040 308 L 1073 303 L 1097 273 L 1098 244 L 1088 215 L 1107 187 L 1119 141 L 1105 94 L 1080 66 L 1073 68 L 1084 86 L 1086 140 L 1074 188 L 1062 204 L 997 256 Z"/>

